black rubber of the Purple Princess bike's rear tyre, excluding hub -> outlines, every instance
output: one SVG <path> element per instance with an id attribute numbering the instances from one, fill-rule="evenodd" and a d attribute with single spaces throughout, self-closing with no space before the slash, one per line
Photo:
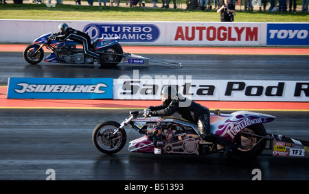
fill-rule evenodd
<path id="1" fill-rule="evenodd" d="M 262 123 L 251 125 L 247 127 L 247 129 L 251 130 L 254 134 L 258 136 L 266 136 L 266 130 Z M 239 135 L 239 134 L 238 134 Z M 236 138 L 237 139 L 237 138 Z M 259 140 L 258 140 L 259 141 Z M 258 156 L 262 153 L 266 146 L 266 139 L 262 139 L 258 144 L 256 144 L 252 149 L 242 150 L 237 147 L 234 147 L 228 154 L 230 158 L 234 159 L 250 159 Z"/>

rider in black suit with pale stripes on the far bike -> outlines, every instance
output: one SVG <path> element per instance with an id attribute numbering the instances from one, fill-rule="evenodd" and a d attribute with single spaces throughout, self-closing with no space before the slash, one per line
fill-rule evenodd
<path id="1" fill-rule="evenodd" d="M 93 50 L 93 47 L 88 34 L 81 32 L 77 29 L 73 29 L 69 27 L 69 25 L 67 25 L 66 23 L 61 23 L 58 28 L 60 32 L 54 34 L 54 36 L 57 36 L 56 40 L 67 40 L 68 38 L 74 40 L 84 47 L 84 53 L 95 58 L 100 58 L 100 55 L 98 53 L 94 53 L 91 51 Z"/>

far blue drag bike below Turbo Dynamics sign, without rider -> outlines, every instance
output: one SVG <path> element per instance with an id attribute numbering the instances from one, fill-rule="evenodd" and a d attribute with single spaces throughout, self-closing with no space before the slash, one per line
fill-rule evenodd
<path id="1" fill-rule="evenodd" d="M 65 64 L 95 64 L 102 66 L 116 66 L 122 60 L 122 46 L 118 43 L 118 38 L 97 38 L 93 41 L 93 52 L 100 55 L 94 58 L 84 53 L 84 49 L 78 48 L 72 40 L 55 40 L 52 32 L 43 34 L 36 38 L 31 45 L 28 45 L 23 51 L 23 58 L 30 64 L 38 64 L 44 58 L 43 47 L 51 50 L 45 59 L 45 62 L 56 62 Z"/>

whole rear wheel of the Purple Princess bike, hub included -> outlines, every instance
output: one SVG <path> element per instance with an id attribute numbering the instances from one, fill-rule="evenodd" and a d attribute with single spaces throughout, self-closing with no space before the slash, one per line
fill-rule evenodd
<path id="1" fill-rule="evenodd" d="M 262 153 L 266 146 L 266 139 L 257 136 L 242 136 L 241 132 L 257 136 L 266 136 L 266 130 L 262 123 L 244 128 L 236 136 L 236 147 L 229 152 L 229 158 L 250 159 Z"/>

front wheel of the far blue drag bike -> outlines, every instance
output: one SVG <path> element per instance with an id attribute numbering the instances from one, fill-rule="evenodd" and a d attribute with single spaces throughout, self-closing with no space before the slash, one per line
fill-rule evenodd
<path id="1" fill-rule="evenodd" d="M 41 48 L 36 52 L 38 49 L 38 45 L 29 45 L 23 51 L 23 58 L 30 64 L 38 64 L 43 60 L 44 57 L 44 50 Z"/>

